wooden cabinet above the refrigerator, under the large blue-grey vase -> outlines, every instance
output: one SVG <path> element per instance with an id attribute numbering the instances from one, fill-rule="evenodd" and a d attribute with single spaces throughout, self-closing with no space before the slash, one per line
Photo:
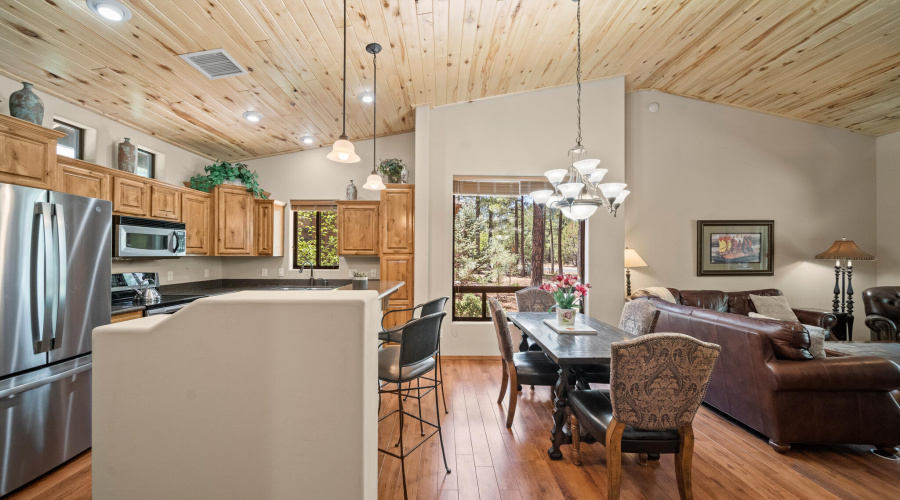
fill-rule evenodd
<path id="1" fill-rule="evenodd" d="M 65 135 L 0 115 L 0 182 L 56 189 L 56 140 Z"/>

